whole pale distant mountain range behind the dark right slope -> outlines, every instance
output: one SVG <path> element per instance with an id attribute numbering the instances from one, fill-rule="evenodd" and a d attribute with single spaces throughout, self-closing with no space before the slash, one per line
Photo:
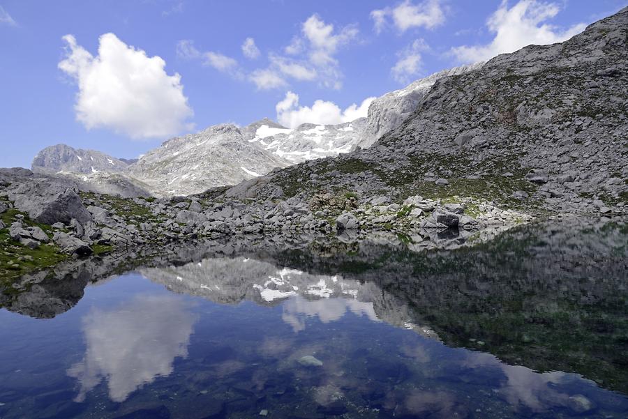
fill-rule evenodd
<path id="1" fill-rule="evenodd" d="M 303 123 L 290 129 L 268 118 L 244 127 L 213 125 L 168 139 L 133 160 L 58 144 L 41 150 L 33 159 L 32 169 L 71 178 L 82 190 L 122 197 L 197 194 L 262 176 L 275 168 L 368 148 L 398 127 L 438 79 L 479 66 L 481 63 L 452 68 L 419 79 L 373 100 L 366 118 L 338 125 Z"/>

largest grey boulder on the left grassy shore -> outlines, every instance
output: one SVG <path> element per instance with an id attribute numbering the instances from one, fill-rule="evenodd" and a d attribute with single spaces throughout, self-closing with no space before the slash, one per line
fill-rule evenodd
<path id="1" fill-rule="evenodd" d="M 27 179 L 11 184 L 4 193 L 15 208 L 36 222 L 69 224 L 73 218 L 78 222 L 91 220 L 73 185 L 59 179 Z"/>

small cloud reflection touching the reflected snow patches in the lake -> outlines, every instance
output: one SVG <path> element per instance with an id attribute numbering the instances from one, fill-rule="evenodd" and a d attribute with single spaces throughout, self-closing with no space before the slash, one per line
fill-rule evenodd
<path id="1" fill-rule="evenodd" d="M 373 310 L 373 303 L 363 303 L 347 298 L 306 300 L 300 296 L 285 302 L 281 318 L 290 324 L 295 332 L 299 332 L 305 329 L 304 317 L 318 317 L 323 323 L 329 323 L 341 319 L 347 310 L 357 316 L 366 315 L 372 321 L 379 321 Z"/>

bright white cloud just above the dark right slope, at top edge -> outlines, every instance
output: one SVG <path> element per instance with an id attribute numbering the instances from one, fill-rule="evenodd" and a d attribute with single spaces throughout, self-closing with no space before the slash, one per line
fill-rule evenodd
<path id="1" fill-rule="evenodd" d="M 454 47 L 451 53 L 461 63 L 486 61 L 493 56 L 514 52 L 530 44 L 559 43 L 585 29 L 586 25 L 583 23 L 574 24 L 565 30 L 546 23 L 559 12 L 558 3 L 521 0 L 508 8 L 508 1 L 502 0 L 498 10 L 486 22 L 488 30 L 495 33 L 495 38 L 491 43 Z"/>

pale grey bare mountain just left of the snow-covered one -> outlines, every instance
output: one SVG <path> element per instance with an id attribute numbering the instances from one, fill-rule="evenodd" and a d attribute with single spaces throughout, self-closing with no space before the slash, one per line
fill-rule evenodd
<path id="1" fill-rule="evenodd" d="M 142 155 L 128 174 L 161 195 L 191 195 L 235 185 L 290 162 L 248 142 L 236 125 L 175 137 Z"/>

